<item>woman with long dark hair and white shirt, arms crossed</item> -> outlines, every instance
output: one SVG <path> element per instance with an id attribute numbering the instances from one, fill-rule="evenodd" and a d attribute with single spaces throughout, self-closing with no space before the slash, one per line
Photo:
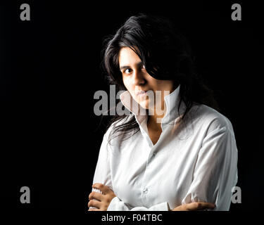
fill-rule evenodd
<path id="1" fill-rule="evenodd" d="M 229 210 L 234 131 L 184 37 L 165 18 L 132 16 L 103 62 L 131 114 L 116 115 L 103 136 L 89 210 Z"/>

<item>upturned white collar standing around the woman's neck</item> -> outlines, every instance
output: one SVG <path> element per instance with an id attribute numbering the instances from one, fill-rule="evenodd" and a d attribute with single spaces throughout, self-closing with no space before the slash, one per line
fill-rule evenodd
<path id="1" fill-rule="evenodd" d="M 130 112 L 135 116 L 137 122 L 141 124 L 144 120 L 147 119 L 147 111 L 142 108 L 139 103 L 134 101 L 129 91 L 124 91 L 120 94 L 120 101 L 122 105 L 130 110 Z M 177 117 L 184 113 L 186 108 L 184 102 L 182 101 L 180 105 L 180 112 L 178 112 L 178 106 L 180 103 L 180 84 L 177 86 L 177 89 L 172 91 L 169 95 L 164 97 L 166 113 L 163 119 L 161 120 L 161 124 L 168 124 L 172 121 L 175 121 Z"/>

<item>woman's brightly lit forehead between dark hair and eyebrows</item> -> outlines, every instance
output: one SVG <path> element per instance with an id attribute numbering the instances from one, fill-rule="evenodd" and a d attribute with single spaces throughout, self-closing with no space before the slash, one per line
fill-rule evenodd
<path id="1" fill-rule="evenodd" d="M 123 47 L 118 55 L 119 65 L 134 65 L 141 62 L 139 56 L 129 47 Z"/>

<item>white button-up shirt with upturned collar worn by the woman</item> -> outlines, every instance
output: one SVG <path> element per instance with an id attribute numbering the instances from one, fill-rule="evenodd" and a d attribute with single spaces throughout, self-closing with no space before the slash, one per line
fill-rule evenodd
<path id="1" fill-rule="evenodd" d="M 213 108 L 195 105 L 186 124 L 179 125 L 185 107 L 182 102 L 179 115 L 179 92 L 180 86 L 165 96 L 162 133 L 154 146 L 147 115 L 136 115 L 126 103 L 129 92 L 121 94 L 140 131 L 122 142 L 121 136 L 113 139 L 111 146 L 107 139 L 115 124 L 103 136 L 93 184 L 104 184 L 115 193 L 108 211 L 167 211 L 197 201 L 215 203 L 214 210 L 230 209 L 238 178 L 232 124 Z"/>

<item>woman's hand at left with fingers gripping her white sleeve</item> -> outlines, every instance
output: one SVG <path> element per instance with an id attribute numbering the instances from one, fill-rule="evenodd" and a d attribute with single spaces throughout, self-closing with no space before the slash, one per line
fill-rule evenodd
<path id="1" fill-rule="evenodd" d="M 97 193 L 95 191 L 92 191 L 89 194 L 89 203 L 88 207 L 96 207 L 97 209 L 89 209 L 88 211 L 107 211 L 108 205 L 110 205 L 111 200 L 115 198 L 115 193 L 108 188 L 108 186 L 105 186 L 103 184 L 93 184 L 93 188 L 99 189 L 101 193 Z M 96 200 L 93 200 L 96 199 Z"/>

